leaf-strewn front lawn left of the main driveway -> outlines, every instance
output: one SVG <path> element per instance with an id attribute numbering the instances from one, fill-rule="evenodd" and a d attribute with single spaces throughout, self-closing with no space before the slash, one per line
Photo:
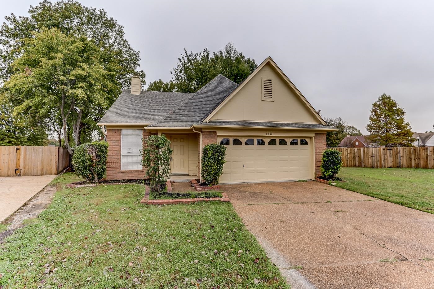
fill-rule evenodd
<path id="1" fill-rule="evenodd" d="M 147 206 L 143 186 L 74 178 L 0 245 L 4 288 L 286 288 L 230 203 Z"/>

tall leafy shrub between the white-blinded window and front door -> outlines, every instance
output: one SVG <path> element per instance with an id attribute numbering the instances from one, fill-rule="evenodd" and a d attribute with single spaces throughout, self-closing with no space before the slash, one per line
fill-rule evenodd
<path id="1" fill-rule="evenodd" d="M 165 135 L 150 135 L 144 138 L 142 150 L 146 176 L 149 178 L 151 191 L 158 192 L 162 184 L 167 181 L 170 173 L 170 156 L 172 149 L 170 141 Z"/>

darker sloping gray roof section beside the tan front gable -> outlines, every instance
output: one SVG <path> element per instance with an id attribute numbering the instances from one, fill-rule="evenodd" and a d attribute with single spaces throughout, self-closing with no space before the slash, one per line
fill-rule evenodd
<path id="1" fill-rule="evenodd" d="M 190 127 L 201 122 L 235 87 L 237 83 L 219 74 L 191 95 L 179 108 L 149 127 Z"/>

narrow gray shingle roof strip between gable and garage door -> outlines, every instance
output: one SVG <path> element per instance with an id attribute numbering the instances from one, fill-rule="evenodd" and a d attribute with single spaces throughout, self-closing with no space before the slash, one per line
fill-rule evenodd
<path id="1" fill-rule="evenodd" d="M 224 125 L 224 126 L 259 126 L 264 128 L 325 128 L 333 129 L 335 127 L 322 125 L 320 123 L 288 123 L 288 122 L 242 122 L 242 121 L 209 121 L 199 122 L 198 125 Z"/>

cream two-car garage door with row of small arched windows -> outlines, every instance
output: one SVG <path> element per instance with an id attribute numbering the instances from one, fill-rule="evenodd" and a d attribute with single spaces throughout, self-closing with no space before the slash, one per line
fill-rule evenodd
<path id="1" fill-rule="evenodd" d="M 312 179 L 309 137 L 218 136 L 227 146 L 220 183 Z"/>

